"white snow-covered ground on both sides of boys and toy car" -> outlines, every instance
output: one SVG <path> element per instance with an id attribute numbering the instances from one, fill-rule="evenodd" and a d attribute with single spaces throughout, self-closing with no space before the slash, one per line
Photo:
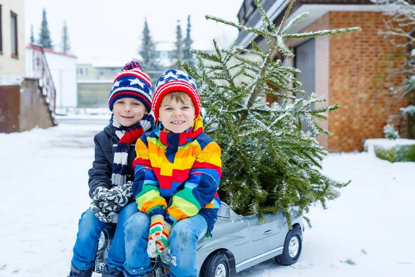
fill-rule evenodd
<path id="1" fill-rule="evenodd" d="M 77 221 L 89 206 L 93 135 L 102 127 L 0 134 L 0 276 L 68 274 Z M 311 209 L 299 261 L 268 260 L 239 276 L 415 276 L 415 163 L 330 154 L 324 172 L 352 182 L 328 210 Z"/>

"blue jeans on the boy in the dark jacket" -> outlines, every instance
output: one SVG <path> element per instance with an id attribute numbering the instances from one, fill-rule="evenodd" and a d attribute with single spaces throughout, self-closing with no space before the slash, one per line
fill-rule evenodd
<path id="1" fill-rule="evenodd" d="M 137 213 L 137 204 L 133 202 L 128 204 L 120 211 L 118 215 L 118 224 L 111 247 L 109 249 L 107 265 L 109 268 L 124 270 L 125 245 L 124 229 L 125 222 Z M 98 251 L 98 239 L 101 231 L 109 228 L 110 223 L 100 222 L 89 208 L 82 213 L 78 224 L 78 233 L 76 236 L 75 247 L 73 247 L 72 265 L 80 270 L 90 269 L 95 265 L 95 257 Z"/>

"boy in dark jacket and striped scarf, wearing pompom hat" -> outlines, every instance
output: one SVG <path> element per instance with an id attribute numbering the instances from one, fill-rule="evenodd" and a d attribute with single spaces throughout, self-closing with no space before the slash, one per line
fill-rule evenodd
<path id="1" fill-rule="evenodd" d="M 69 276 L 90 277 L 103 229 L 117 223 L 104 277 L 123 276 L 124 223 L 137 212 L 131 203 L 134 145 L 152 129 L 151 82 L 138 62 L 129 62 L 116 75 L 109 94 L 110 124 L 94 137 L 95 160 L 89 170 L 91 208 L 80 219 Z"/>

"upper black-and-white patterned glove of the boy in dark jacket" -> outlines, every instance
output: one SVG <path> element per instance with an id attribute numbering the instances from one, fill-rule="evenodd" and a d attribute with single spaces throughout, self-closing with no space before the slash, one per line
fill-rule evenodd
<path id="1" fill-rule="evenodd" d="M 131 182 L 114 186 L 102 197 L 102 202 L 99 204 L 102 213 L 120 213 L 121 209 L 129 204 L 132 195 Z"/>

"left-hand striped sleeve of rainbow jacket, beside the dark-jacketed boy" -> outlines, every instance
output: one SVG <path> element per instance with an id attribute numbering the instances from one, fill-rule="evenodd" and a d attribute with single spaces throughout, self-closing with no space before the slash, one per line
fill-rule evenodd
<path id="1" fill-rule="evenodd" d="M 157 214 L 165 215 L 167 203 L 160 196 L 160 183 L 151 168 L 147 146 L 146 136 L 142 136 L 136 142 L 137 157 L 133 161 L 133 166 L 135 166 L 133 195 L 136 198 L 138 211 L 147 213 L 149 217 Z"/>

